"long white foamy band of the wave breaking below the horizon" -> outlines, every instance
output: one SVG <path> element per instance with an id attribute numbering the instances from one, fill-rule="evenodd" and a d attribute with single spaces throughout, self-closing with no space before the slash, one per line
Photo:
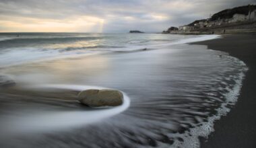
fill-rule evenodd
<path id="1" fill-rule="evenodd" d="M 20 65 L 30 62 L 49 61 L 53 59 L 63 59 L 69 57 L 80 57 L 91 54 L 99 54 L 104 52 L 131 52 L 139 51 L 144 48 L 162 48 L 164 46 L 170 46 L 175 44 L 185 44 L 190 42 L 199 42 L 203 40 L 213 40 L 220 38 L 219 35 L 201 35 L 191 36 L 191 38 L 185 38 L 176 40 L 173 42 L 167 42 L 162 44 L 151 45 L 130 45 L 124 48 L 106 48 L 98 50 L 69 50 L 66 52 L 60 52 L 61 50 L 53 50 L 47 48 L 37 47 L 19 47 L 19 48 L 7 48 L 0 54 L 0 67 L 9 67 L 12 65 Z M 4 38 L 3 40 L 11 40 L 11 38 Z"/>

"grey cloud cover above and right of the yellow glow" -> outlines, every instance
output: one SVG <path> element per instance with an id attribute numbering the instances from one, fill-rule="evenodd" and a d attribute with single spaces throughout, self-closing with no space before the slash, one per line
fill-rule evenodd
<path id="1" fill-rule="evenodd" d="M 130 29 L 160 32 L 169 26 L 209 17 L 222 9 L 252 3 L 255 0 L 0 0 L 0 19 L 64 20 L 90 15 L 106 20 L 104 32 L 127 32 Z M 166 18 L 157 20 L 152 15 L 164 15 Z M 133 19 L 125 20 L 125 17 Z"/>

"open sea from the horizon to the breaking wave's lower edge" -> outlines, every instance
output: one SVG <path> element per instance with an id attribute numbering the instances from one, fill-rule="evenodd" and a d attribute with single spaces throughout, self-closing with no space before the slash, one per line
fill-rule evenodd
<path id="1" fill-rule="evenodd" d="M 215 37 L 216 35 L 212 36 Z M 143 50 L 192 38 L 203 40 L 202 38 L 207 37 L 164 34 L 0 33 L 0 67 L 82 54 Z"/>

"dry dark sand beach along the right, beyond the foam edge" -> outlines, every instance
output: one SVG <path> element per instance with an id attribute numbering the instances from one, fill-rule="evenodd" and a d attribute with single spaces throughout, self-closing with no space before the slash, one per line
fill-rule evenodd
<path id="1" fill-rule="evenodd" d="M 201 139 L 201 147 L 256 147 L 256 34 L 225 35 L 194 44 L 228 52 L 249 67 L 238 102 L 227 116 L 216 122 L 209 139 Z"/>

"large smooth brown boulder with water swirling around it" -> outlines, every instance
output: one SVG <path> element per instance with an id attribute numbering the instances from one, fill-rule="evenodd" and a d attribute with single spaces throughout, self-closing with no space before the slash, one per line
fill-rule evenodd
<path id="1" fill-rule="evenodd" d="M 78 94 L 79 102 L 90 107 L 120 106 L 123 94 L 114 89 L 87 89 Z"/>

